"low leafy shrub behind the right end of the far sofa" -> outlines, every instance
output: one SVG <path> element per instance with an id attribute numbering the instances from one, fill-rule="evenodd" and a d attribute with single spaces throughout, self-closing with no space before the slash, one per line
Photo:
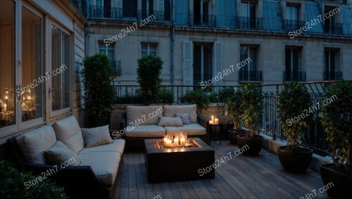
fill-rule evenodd
<path id="1" fill-rule="evenodd" d="M 180 101 L 181 103 L 196 104 L 198 113 L 201 113 L 202 110 L 206 110 L 209 107 L 208 96 L 202 89 L 187 91 L 186 94 L 180 96 Z"/>

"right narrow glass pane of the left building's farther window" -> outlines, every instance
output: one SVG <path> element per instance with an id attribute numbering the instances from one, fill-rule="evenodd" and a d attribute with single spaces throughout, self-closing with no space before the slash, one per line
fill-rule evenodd
<path id="1" fill-rule="evenodd" d="M 70 35 L 62 34 L 62 63 L 56 68 L 56 73 L 61 75 L 62 108 L 70 107 Z"/>

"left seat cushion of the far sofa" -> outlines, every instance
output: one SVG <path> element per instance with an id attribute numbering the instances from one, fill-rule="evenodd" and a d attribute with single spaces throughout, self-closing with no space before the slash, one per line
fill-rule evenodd
<path id="1" fill-rule="evenodd" d="M 127 137 L 154 138 L 165 136 L 165 129 L 158 125 L 139 125 L 126 127 Z"/>

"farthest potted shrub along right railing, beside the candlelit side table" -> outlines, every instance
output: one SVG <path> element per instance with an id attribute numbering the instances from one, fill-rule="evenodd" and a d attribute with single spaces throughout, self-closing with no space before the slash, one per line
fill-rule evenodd
<path id="1" fill-rule="evenodd" d="M 229 130 L 229 139 L 232 144 L 237 144 L 237 136 L 239 134 L 245 134 L 245 131 L 241 130 L 241 115 L 243 114 L 241 110 L 242 90 L 242 87 L 239 87 L 225 103 L 222 103 L 222 108 L 227 111 L 234 124 L 234 128 Z"/>

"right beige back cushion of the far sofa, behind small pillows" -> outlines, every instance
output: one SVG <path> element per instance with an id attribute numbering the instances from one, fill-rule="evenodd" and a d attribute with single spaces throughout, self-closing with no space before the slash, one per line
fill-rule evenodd
<path id="1" fill-rule="evenodd" d="M 175 117 L 176 113 L 189 113 L 189 120 L 192 124 L 197 123 L 197 106 L 192 105 L 163 105 L 165 117 Z"/>

